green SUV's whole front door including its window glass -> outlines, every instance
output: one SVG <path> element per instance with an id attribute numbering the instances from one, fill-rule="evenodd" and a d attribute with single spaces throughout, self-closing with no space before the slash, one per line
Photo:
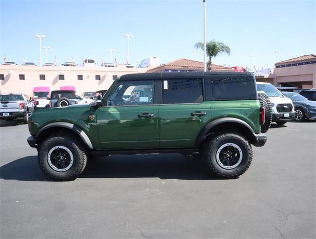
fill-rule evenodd
<path id="1" fill-rule="evenodd" d="M 158 105 L 154 80 L 118 81 L 108 106 L 97 110 L 102 149 L 158 148 Z"/>

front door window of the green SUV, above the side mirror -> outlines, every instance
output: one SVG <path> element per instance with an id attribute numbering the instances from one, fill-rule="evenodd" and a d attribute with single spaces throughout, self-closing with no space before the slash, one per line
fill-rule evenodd
<path id="1" fill-rule="evenodd" d="M 109 106 L 152 105 L 154 80 L 121 81 L 109 98 Z"/>

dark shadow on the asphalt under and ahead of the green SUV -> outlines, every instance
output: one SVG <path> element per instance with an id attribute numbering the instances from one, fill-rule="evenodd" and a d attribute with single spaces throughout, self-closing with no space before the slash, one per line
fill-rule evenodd
<path id="1" fill-rule="evenodd" d="M 143 178 L 217 180 L 199 159 L 181 154 L 116 155 L 92 157 L 79 178 Z M 0 178 L 19 181 L 53 181 L 41 170 L 37 156 L 16 159 L 0 167 Z"/>

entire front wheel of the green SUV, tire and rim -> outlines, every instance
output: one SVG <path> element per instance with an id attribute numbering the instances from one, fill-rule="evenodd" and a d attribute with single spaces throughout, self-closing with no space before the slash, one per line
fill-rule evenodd
<path id="1" fill-rule="evenodd" d="M 76 179 L 87 162 L 85 145 L 69 134 L 56 134 L 46 138 L 38 151 L 40 168 L 49 177 L 59 181 Z"/>

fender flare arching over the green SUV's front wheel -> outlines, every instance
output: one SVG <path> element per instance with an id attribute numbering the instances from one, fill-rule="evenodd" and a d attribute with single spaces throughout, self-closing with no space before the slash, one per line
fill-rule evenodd
<path id="1" fill-rule="evenodd" d="M 82 139 L 82 141 L 84 142 L 84 144 L 89 148 L 89 149 L 93 149 L 92 143 L 89 139 L 89 137 L 86 135 L 86 133 L 79 128 L 77 125 L 73 124 L 73 123 L 68 123 L 68 122 L 54 122 L 54 123 L 49 123 L 47 125 L 45 125 L 44 127 L 42 127 L 39 132 L 36 134 L 36 138 L 38 138 L 40 136 L 40 134 L 45 131 L 48 128 L 53 128 L 53 127 L 62 127 L 62 128 L 67 128 L 72 130 L 73 132 L 75 132 L 76 134 L 79 135 L 79 137 Z"/>

